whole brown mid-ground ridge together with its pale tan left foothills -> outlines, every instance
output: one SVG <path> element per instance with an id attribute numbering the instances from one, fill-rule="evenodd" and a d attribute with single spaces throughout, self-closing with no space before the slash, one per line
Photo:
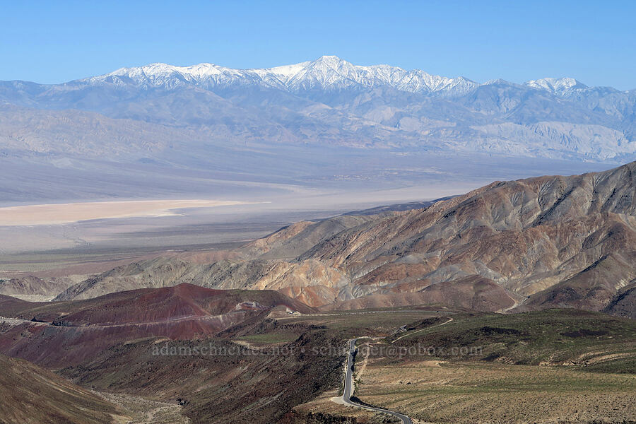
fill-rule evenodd
<path id="1" fill-rule="evenodd" d="M 635 169 L 630 163 L 493 182 L 428 208 L 298 223 L 248 243 L 231 260 L 154 259 L 72 286 L 59 298 L 187 281 L 272 288 L 312 306 L 382 294 L 390 304 L 601 310 L 636 278 Z M 391 298 L 400 293 L 419 295 Z"/>

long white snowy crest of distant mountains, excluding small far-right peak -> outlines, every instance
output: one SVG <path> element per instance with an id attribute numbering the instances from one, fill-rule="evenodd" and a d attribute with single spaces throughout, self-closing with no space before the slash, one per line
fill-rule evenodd
<path id="1" fill-rule="evenodd" d="M 389 86 L 411 93 L 462 95 L 478 86 L 466 78 L 435 76 L 419 69 L 396 66 L 356 66 L 337 56 L 322 56 L 299 64 L 266 69 L 231 69 L 210 63 L 173 66 L 163 63 L 121 68 L 79 83 L 172 89 L 188 84 L 201 88 L 257 85 L 290 92 L 347 90 Z"/>

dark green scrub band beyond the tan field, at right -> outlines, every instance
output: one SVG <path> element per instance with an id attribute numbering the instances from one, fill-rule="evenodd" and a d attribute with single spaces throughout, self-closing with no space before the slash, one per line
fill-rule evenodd
<path id="1" fill-rule="evenodd" d="M 398 346 L 418 343 L 446 348 L 437 352 L 448 353 L 441 355 L 447 360 L 585 367 L 601 360 L 624 362 L 625 355 L 636 357 L 636 322 L 580 310 L 464 315 L 395 341 Z M 481 354 L 469 351 L 458 358 L 450 354 L 452 347 L 481 348 Z"/>

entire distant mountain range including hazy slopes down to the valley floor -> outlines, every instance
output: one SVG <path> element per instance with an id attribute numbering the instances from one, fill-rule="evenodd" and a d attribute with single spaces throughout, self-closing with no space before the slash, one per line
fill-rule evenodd
<path id="1" fill-rule="evenodd" d="M 170 194 L 192 191 L 192 172 L 208 184 L 308 185 L 343 173 L 377 184 L 389 168 L 411 184 L 440 173 L 471 179 L 480 172 L 465 165 L 476 158 L 491 164 L 481 167 L 491 178 L 520 176 L 492 175 L 492 164 L 507 158 L 525 161 L 534 175 L 563 168 L 556 160 L 596 170 L 581 164 L 633 160 L 635 141 L 636 90 L 573 78 L 476 83 L 324 56 L 270 69 L 151 64 L 62 84 L 0 82 L 6 169 L 37 167 L 37 182 L 69 180 L 83 198 L 114 190 L 91 192 L 78 175 L 141 196 L 151 174 L 172 177 L 153 187 Z M 547 165 L 539 170 L 536 160 Z M 431 171 L 430 163 L 440 166 Z M 119 178 L 122 169 L 136 176 Z M 37 182 L 8 178 L 0 189 L 23 201 Z M 68 191 L 39 196 L 69 198 Z"/>

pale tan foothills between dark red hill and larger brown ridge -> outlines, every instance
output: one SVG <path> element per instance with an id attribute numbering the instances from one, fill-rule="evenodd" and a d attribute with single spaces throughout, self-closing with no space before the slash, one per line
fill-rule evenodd
<path id="1" fill-rule="evenodd" d="M 320 261 L 299 262 L 294 258 L 324 238 L 374 218 L 377 219 L 339 216 L 318 223 L 295 223 L 235 252 L 217 255 L 226 259 L 216 261 L 184 254 L 119 266 L 69 287 L 55 300 L 88 299 L 121 290 L 192 283 L 222 289 L 280 289 L 307 305 L 322 305 L 325 299 L 335 300 L 339 287 L 347 285 L 348 279 L 341 270 Z"/>

